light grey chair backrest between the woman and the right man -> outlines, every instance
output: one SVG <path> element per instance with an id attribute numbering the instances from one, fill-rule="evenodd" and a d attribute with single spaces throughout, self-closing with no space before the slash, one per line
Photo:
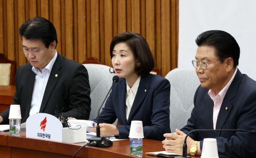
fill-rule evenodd
<path id="1" fill-rule="evenodd" d="M 171 84 L 170 89 L 170 128 L 181 129 L 187 125 L 192 108 L 194 95 L 200 81 L 194 67 L 182 67 L 171 70 L 165 77 Z"/>

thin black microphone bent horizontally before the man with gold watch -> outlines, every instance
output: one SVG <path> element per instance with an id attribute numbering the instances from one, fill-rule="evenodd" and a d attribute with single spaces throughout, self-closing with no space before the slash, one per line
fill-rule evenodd
<path id="1" fill-rule="evenodd" d="M 193 132 L 200 132 L 200 131 L 208 131 L 208 132 L 213 132 L 213 131 L 237 131 L 237 132 L 256 132 L 256 131 L 247 131 L 243 129 L 194 129 L 185 136 L 184 144 L 183 144 L 183 151 L 182 151 L 182 156 L 176 156 L 174 158 L 191 158 L 191 156 L 187 156 L 187 137 L 190 133 Z"/>

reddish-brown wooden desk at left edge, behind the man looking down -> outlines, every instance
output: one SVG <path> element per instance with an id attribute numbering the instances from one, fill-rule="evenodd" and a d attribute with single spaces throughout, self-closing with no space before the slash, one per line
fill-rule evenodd
<path id="1" fill-rule="evenodd" d="M 0 85 L 0 113 L 13 103 L 15 85 Z"/>

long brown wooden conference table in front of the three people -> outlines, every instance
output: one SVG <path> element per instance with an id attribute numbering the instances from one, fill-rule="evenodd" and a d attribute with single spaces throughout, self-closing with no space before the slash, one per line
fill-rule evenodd
<path id="1" fill-rule="evenodd" d="M 0 158 L 72 158 L 84 144 L 26 138 L 26 129 L 22 129 L 21 136 L 0 132 Z M 138 158 L 130 156 L 129 151 L 129 140 L 118 140 L 110 147 L 83 147 L 75 158 Z M 164 151 L 162 142 L 143 139 L 143 158 L 154 158 L 145 153 L 155 151 Z"/>

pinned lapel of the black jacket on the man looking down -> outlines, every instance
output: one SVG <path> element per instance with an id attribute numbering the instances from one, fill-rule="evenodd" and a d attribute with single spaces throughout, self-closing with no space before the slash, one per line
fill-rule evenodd
<path id="1" fill-rule="evenodd" d="M 53 89 L 61 76 L 62 60 L 63 59 L 61 58 L 60 54 L 58 53 L 57 58 L 53 64 L 53 68 L 51 70 L 46 88 L 45 88 L 45 93 L 44 93 L 44 96 L 42 99 L 39 113 L 42 113 L 42 111 L 45 109 L 45 106 L 48 103 L 48 100 L 53 92 Z"/>

